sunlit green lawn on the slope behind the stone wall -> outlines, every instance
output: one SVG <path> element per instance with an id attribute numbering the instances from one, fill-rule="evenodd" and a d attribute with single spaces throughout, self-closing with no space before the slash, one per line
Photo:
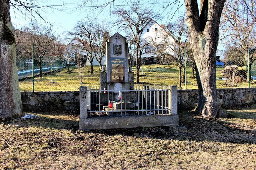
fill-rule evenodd
<path id="1" fill-rule="evenodd" d="M 141 75 L 143 70 L 143 75 Z M 175 64 L 170 65 L 149 65 L 142 66 L 140 70 L 140 82 L 143 84 L 152 85 L 178 85 L 178 68 Z M 217 67 L 216 83 L 217 88 L 227 88 L 225 80 L 220 80 L 223 77 L 221 75 L 223 68 Z M 67 90 L 79 90 L 80 87 L 80 74 L 78 69 L 73 69 L 72 73 L 66 73 L 67 69 L 60 72 L 53 73 L 53 81 L 51 82 L 51 74 L 43 75 L 43 78 L 35 78 L 35 91 L 67 91 Z M 135 72 L 135 68 L 133 68 Z M 82 73 L 82 82 L 84 86 L 99 85 L 100 82 L 100 68 L 94 66 L 94 73 L 90 74 L 90 67 L 84 67 Z M 32 90 L 32 79 L 27 79 L 19 82 L 21 91 Z M 255 86 L 252 84 L 251 86 Z M 248 87 L 248 83 L 237 83 L 235 87 Z M 182 83 L 182 87 L 185 88 L 185 83 Z M 192 69 L 187 67 L 187 89 L 196 89 L 196 78 L 192 78 Z M 229 87 L 232 88 L 232 87 Z"/>

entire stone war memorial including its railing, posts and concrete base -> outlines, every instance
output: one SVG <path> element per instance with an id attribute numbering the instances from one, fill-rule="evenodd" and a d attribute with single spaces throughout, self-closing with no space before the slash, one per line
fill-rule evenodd
<path id="1" fill-rule="evenodd" d="M 115 33 L 106 42 L 100 90 L 80 87 L 81 130 L 178 126 L 177 86 L 158 89 L 163 93 L 156 93 L 157 89 L 134 90 L 134 74 L 128 56 L 128 43 L 122 35 Z M 156 98 L 163 98 L 162 105 L 156 103 L 160 101 Z M 162 108 L 162 114 L 159 114 L 159 108 Z"/>

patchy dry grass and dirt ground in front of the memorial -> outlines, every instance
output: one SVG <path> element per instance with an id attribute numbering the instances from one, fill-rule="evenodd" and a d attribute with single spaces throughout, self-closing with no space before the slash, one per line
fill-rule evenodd
<path id="1" fill-rule="evenodd" d="M 256 105 L 229 118 L 179 113 L 179 127 L 79 130 L 79 115 L 0 123 L 0 169 L 256 169 Z"/>

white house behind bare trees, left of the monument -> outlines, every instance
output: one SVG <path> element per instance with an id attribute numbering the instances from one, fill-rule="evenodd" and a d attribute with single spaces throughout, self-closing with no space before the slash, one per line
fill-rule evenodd
<path id="1" fill-rule="evenodd" d="M 79 53 L 80 56 L 83 57 L 85 65 L 86 65 L 86 66 L 90 66 L 91 63 L 90 63 L 89 60 L 87 59 L 87 53 L 86 53 L 86 51 L 85 51 L 85 50 L 81 50 L 80 48 L 75 48 L 75 49 L 74 49 L 74 47 L 77 47 L 77 46 L 81 46 L 81 47 L 82 47 L 82 43 L 81 43 L 81 42 L 82 42 L 82 40 L 81 40 L 80 38 L 74 37 L 74 38 L 70 41 L 70 43 L 68 44 L 68 48 L 70 49 L 70 51 L 73 51 L 73 52 L 71 53 L 71 61 L 72 61 L 72 62 L 71 62 L 70 64 L 74 64 L 74 65 L 76 64 L 76 63 L 75 63 L 75 61 L 76 61 L 76 53 Z M 85 42 L 85 43 L 86 43 L 86 42 Z M 76 50 L 76 51 L 74 51 L 74 50 Z M 100 53 L 100 51 L 99 51 L 99 53 Z M 93 66 L 99 66 L 99 62 L 96 60 L 95 57 L 93 58 L 92 64 L 93 64 Z M 102 58 L 101 64 L 102 64 L 102 65 L 105 65 L 105 56 Z"/>

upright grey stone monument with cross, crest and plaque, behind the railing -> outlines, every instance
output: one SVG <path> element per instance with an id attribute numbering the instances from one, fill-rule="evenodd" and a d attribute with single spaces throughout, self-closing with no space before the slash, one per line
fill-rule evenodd
<path id="1" fill-rule="evenodd" d="M 134 74 L 129 68 L 128 52 L 128 43 L 119 33 L 106 42 L 106 69 L 100 73 L 100 89 L 114 90 L 116 99 L 119 91 L 134 89 Z"/>

